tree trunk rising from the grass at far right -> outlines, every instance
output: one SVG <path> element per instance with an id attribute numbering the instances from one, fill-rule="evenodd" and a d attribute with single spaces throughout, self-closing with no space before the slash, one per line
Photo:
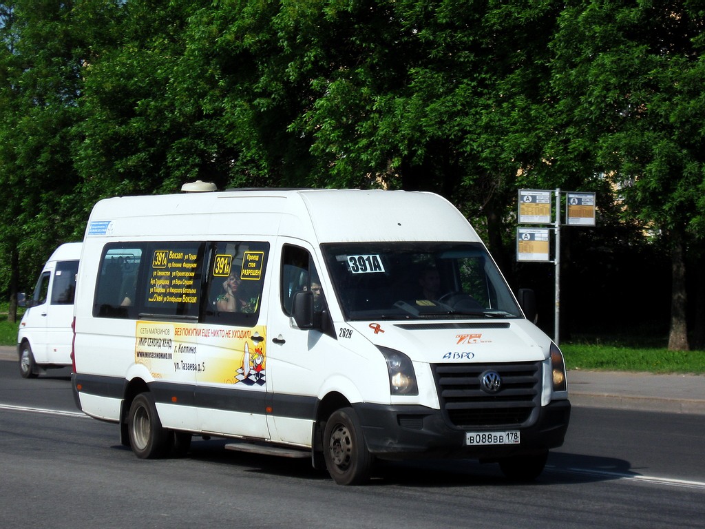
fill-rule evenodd
<path id="1" fill-rule="evenodd" d="M 688 326 L 686 320 L 687 290 L 685 286 L 685 243 L 680 227 L 668 232 L 671 258 L 670 332 L 668 351 L 688 351 Z"/>

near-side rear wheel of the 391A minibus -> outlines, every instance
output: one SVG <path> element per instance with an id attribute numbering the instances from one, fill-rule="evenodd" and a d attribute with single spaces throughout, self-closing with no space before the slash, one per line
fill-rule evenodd
<path id="1" fill-rule="evenodd" d="M 173 433 L 161 426 L 157 406 L 151 393 L 140 393 L 133 400 L 128 415 L 130 446 L 140 459 L 161 458 L 173 444 Z"/>

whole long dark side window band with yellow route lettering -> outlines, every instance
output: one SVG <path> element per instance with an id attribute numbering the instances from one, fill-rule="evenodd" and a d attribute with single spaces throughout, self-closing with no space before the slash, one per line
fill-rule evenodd
<path id="1" fill-rule="evenodd" d="M 96 317 L 257 324 L 269 243 L 111 243 L 102 255 Z"/>

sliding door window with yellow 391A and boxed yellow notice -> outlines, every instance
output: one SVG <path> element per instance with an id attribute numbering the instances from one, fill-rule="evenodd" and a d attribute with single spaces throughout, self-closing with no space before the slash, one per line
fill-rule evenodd
<path id="1" fill-rule="evenodd" d="M 253 327 L 257 324 L 269 243 L 219 242 L 210 249 L 210 322 Z"/>

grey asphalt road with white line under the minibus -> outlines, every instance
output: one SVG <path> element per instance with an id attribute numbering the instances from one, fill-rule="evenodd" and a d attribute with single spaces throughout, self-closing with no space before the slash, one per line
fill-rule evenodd
<path id="1" fill-rule="evenodd" d="M 76 528 L 702 528 L 705 416 L 576 407 L 532 485 L 472 461 L 381 466 L 341 487 L 303 460 L 198 441 L 142 461 L 75 409 L 68 370 L 0 361 L 0 526 Z"/>

